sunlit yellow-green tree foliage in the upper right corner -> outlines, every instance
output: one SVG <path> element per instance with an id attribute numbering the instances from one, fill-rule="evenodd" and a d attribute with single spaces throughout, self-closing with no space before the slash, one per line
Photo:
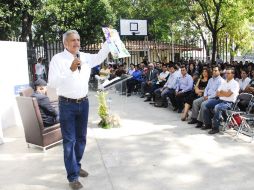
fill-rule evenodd
<path id="1" fill-rule="evenodd" d="M 252 0 L 169 0 L 183 13 L 183 20 L 192 23 L 200 33 L 206 47 L 207 36 L 213 38 L 212 59 L 215 58 L 218 38 L 227 36 L 235 50 L 250 49 L 253 38 L 250 23 L 253 23 Z M 246 43 L 247 42 L 247 43 Z M 253 45 L 253 44 L 252 44 Z M 234 50 L 234 51 L 235 51 Z"/>

